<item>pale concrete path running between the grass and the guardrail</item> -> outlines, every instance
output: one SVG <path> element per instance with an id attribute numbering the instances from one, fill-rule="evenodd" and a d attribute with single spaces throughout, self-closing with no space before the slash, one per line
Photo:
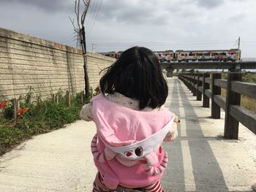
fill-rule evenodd
<path id="1" fill-rule="evenodd" d="M 256 183 L 256 136 L 244 126 L 238 140 L 222 139 L 224 117 L 214 120 L 184 84 L 168 79 L 166 107 L 180 118 L 179 137 L 165 143 L 169 164 L 165 191 L 252 191 Z M 0 158 L 0 191 L 91 191 L 96 169 L 90 152 L 94 123 L 24 142 Z"/>

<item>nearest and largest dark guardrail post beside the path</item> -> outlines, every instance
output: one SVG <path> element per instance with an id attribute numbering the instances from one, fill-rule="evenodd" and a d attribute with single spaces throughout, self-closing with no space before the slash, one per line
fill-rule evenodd
<path id="1" fill-rule="evenodd" d="M 226 109 L 225 109 L 225 139 L 238 139 L 238 126 L 239 122 L 233 118 L 230 112 L 230 105 L 240 105 L 241 94 L 235 93 L 231 90 L 232 81 L 241 81 L 241 73 L 228 73 L 227 74 L 227 95 L 226 95 Z"/>

